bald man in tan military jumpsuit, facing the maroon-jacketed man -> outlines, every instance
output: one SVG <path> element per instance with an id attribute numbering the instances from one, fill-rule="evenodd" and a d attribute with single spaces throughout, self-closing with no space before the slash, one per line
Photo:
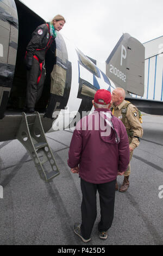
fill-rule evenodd
<path id="1" fill-rule="evenodd" d="M 111 111 L 115 117 L 122 120 L 126 127 L 129 138 L 130 160 L 133 156 L 133 150 L 139 146 L 140 138 L 143 135 L 143 129 L 139 119 L 138 109 L 130 102 L 124 100 L 126 93 L 122 88 L 116 88 L 112 91 L 112 105 Z M 130 175 L 130 163 L 128 169 L 124 173 L 124 180 L 120 192 L 126 192 L 129 187 L 129 175 Z M 118 190 L 118 184 L 116 182 L 116 190 Z"/>

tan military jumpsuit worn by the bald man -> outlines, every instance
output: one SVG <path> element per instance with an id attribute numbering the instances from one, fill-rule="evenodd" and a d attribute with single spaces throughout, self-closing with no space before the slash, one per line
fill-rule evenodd
<path id="1" fill-rule="evenodd" d="M 125 112 L 125 120 L 123 120 L 123 124 L 126 127 L 127 134 L 128 134 L 128 139 L 129 139 L 129 146 L 134 150 L 136 147 L 139 146 L 140 144 L 140 138 L 143 135 L 143 129 L 140 123 L 139 119 L 139 111 L 137 107 L 135 107 L 133 104 L 128 104 L 127 106 L 127 101 L 123 100 L 122 103 L 118 106 L 115 106 L 112 104 L 111 106 L 111 111 L 112 114 L 117 117 L 118 119 L 123 119 L 123 114 L 122 112 Z M 133 151 L 130 152 L 130 160 L 133 156 Z M 128 169 L 124 173 L 124 176 L 129 176 L 130 175 L 130 163 L 128 166 Z"/>

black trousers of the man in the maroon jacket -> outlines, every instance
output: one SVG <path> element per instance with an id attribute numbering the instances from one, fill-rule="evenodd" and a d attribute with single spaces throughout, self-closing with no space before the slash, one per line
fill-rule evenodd
<path id="1" fill-rule="evenodd" d="M 98 224 L 99 231 L 107 231 L 114 218 L 115 204 L 115 182 L 111 181 L 104 184 L 92 184 L 80 179 L 82 189 L 82 225 L 81 232 L 85 239 L 91 236 L 92 228 L 97 216 L 96 193 L 99 193 L 101 207 L 101 221 Z"/>

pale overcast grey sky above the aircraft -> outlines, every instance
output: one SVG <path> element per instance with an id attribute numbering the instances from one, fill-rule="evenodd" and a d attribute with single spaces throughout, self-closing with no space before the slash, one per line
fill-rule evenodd
<path id="1" fill-rule="evenodd" d="M 21 0 L 46 21 L 61 14 L 65 35 L 85 55 L 105 61 L 123 33 L 140 42 L 163 35 L 162 0 Z"/>

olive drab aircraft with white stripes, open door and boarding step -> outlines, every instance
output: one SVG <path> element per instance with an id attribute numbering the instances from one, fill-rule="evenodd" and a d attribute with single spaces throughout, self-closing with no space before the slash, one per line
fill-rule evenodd
<path id="1" fill-rule="evenodd" d="M 86 57 L 57 33 L 53 53 L 46 54 L 41 99 L 36 111 L 26 114 L 24 56 L 33 31 L 42 23 L 45 21 L 21 1 L 0 1 L 0 141 L 18 139 L 41 178 L 49 181 L 59 170 L 45 133 L 75 125 L 77 113 L 91 112 L 93 96 L 100 88 L 112 92 L 122 87 L 128 96 L 143 96 L 145 47 L 129 34 L 123 34 L 100 68 L 96 60 Z M 137 104 L 136 99 L 129 100 Z M 143 110 L 145 106 L 138 107 Z"/>

